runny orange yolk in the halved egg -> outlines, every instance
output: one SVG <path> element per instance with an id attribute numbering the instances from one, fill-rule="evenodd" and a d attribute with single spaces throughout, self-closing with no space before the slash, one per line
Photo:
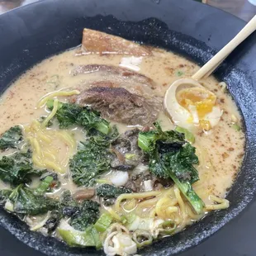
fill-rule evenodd
<path id="1" fill-rule="evenodd" d="M 187 88 L 177 93 L 178 103 L 189 111 L 189 106 L 195 106 L 201 129 L 210 130 L 209 121 L 205 121 L 204 116 L 211 113 L 212 107 L 216 105 L 216 95 L 203 88 Z"/>

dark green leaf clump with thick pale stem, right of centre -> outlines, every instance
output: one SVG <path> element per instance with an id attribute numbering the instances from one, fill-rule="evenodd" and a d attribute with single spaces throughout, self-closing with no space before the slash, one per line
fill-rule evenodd
<path id="1" fill-rule="evenodd" d="M 180 191 L 200 214 L 204 203 L 192 189 L 198 178 L 195 148 L 185 141 L 184 135 L 175 130 L 163 131 L 158 123 L 156 130 L 140 132 L 138 145 L 149 154 L 149 169 L 160 178 L 172 178 Z"/>

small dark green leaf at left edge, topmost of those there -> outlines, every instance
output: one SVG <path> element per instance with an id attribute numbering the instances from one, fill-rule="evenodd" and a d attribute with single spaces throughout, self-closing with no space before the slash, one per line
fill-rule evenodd
<path id="1" fill-rule="evenodd" d="M 22 140 L 21 127 L 13 126 L 2 134 L 0 138 L 0 149 L 17 149 L 17 146 Z"/>

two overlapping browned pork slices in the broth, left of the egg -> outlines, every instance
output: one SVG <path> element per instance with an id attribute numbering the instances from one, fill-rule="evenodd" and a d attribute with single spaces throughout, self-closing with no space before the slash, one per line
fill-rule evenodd
<path id="1" fill-rule="evenodd" d="M 84 78 L 76 87 L 81 93 L 70 101 L 92 106 L 109 121 L 151 126 L 162 110 L 157 85 L 144 74 L 105 64 L 79 65 L 70 74 Z"/>

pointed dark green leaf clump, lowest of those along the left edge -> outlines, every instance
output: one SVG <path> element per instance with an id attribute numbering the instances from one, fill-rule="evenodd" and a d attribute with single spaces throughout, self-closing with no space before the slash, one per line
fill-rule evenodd
<path id="1" fill-rule="evenodd" d="M 13 204 L 13 211 L 15 213 L 31 216 L 44 214 L 58 206 L 55 200 L 35 195 L 31 189 L 24 187 L 22 184 L 12 191 L 9 200 Z"/>

